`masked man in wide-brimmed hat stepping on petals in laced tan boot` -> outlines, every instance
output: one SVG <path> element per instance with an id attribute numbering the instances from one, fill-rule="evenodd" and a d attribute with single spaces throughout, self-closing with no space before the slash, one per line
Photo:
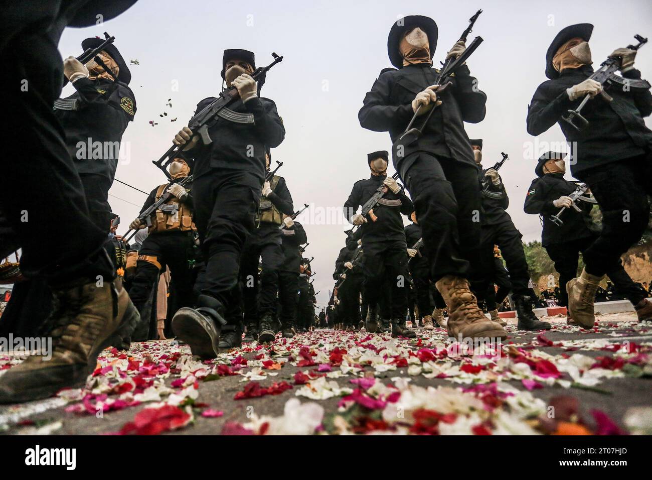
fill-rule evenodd
<path id="1" fill-rule="evenodd" d="M 436 46 L 437 25 L 432 18 L 408 16 L 395 22 L 387 51 L 396 69 L 380 72 L 358 118 L 366 129 L 389 131 L 395 142 L 420 105 L 420 114 L 436 108 L 417 141 L 394 145 L 394 167 L 415 204 L 432 281 L 449 308 L 449 334 L 506 338 L 503 327 L 484 316 L 469 289 L 469 279 L 482 278 L 481 198 L 464 121 L 484 119 L 486 95 L 469 67 L 462 65 L 454 72 L 452 85 L 437 98 L 432 89 Z M 465 48 L 460 40 L 448 56 L 459 56 Z M 421 123 L 417 118 L 416 125 Z"/>

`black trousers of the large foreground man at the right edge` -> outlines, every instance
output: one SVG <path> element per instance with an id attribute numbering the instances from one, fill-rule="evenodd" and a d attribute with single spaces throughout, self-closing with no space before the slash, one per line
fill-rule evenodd
<path id="1" fill-rule="evenodd" d="M 602 211 L 602 232 L 583 252 L 586 271 L 602 276 L 641 239 L 652 195 L 652 153 L 577 172 Z"/>

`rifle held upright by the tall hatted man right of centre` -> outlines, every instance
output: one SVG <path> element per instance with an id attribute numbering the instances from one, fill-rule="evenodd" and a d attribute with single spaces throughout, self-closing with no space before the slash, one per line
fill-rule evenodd
<path id="1" fill-rule="evenodd" d="M 471 18 L 469 18 L 469 26 L 462 32 L 462 35 L 460 36 L 460 40 L 464 40 L 466 42 L 467 37 L 469 34 L 473 31 L 473 25 L 475 25 L 475 21 L 478 19 L 480 14 L 482 13 L 482 10 L 478 10 L 475 12 L 475 15 L 473 15 Z M 458 41 L 460 41 L 458 40 Z M 435 81 L 433 85 L 438 85 L 436 89 L 434 89 L 435 93 L 439 93 L 441 91 L 444 91 L 446 88 L 448 88 L 450 85 L 452 85 L 451 82 L 451 74 L 460 67 L 470 56 L 475 52 L 475 49 L 480 46 L 482 43 L 482 37 L 475 37 L 473 41 L 469 44 L 469 46 L 466 47 L 466 50 L 462 52 L 462 54 L 457 57 L 451 57 L 447 59 L 445 62 L 441 62 L 441 70 L 437 72 L 435 76 Z M 394 145 L 392 146 L 393 152 L 396 152 L 398 150 L 399 146 L 408 146 L 415 142 L 423 133 L 423 129 L 426 127 L 426 124 L 428 123 L 428 120 L 430 120 L 430 116 L 432 116 L 432 112 L 434 112 L 436 105 L 432 105 L 430 108 L 430 112 L 428 112 L 428 115 L 426 116 L 426 119 L 423 121 L 421 124 L 421 128 L 413 128 L 412 125 L 415 120 L 417 120 L 417 117 L 419 116 L 419 112 L 421 112 L 423 104 L 419 104 L 417 107 L 417 111 L 414 112 L 414 115 L 412 116 L 412 119 L 408 123 L 408 127 L 406 128 L 406 131 L 398 137 L 396 142 L 394 142 Z"/>

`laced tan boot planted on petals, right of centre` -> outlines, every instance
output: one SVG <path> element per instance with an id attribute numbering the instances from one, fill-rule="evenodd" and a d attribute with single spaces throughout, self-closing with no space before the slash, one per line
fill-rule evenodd
<path id="1" fill-rule="evenodd" d="M 499 323 L 484 316 L 466 278 L 447 275 L 435 283 L 449 309 L 448 334 L 452 338 L 507 338 Z"/>

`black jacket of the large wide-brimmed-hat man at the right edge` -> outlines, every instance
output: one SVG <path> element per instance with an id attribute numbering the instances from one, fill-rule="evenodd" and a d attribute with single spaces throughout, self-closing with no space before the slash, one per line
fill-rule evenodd
<path id="1" fill-rule="evenodd" d="M 559 78 L 547 80 L 537 88 L 527 111 L 527 133 L 530 135 L 539 135 L 559 123 L 566 140 L 572 142 L 571 172 L 574 176 L 586 168 L 643 155 L 652 144 L 652 131 L 643 121 L 652 113 L 649 89 L 624 89 L 616 83 L 605 84 L 605 91 L 614 101 L 607 102 L 600 95 L 589 100 L 582 108 L 582 116 L 589 121 L 588 127 L 578 132 L 562 120 L 562 115 L 566 116 L 568 110 L 574 110 L 582 101 L 581 98 L 569 100 L 566 89 L 583 82 L 592 73 L 590 65 L 564 69 Z M 640 78 L 641 74 L 634 69 L 624 76 Z"/>

